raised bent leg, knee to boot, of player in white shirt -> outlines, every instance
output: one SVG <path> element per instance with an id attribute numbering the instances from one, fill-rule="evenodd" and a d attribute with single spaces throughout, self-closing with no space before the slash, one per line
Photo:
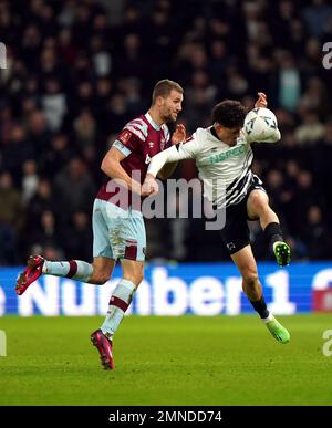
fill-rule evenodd
<path id="1" fill-rule="evenodd" d="M 268 195 L 262 190 L 252 190 L 248 197 L 247 210 L 249 218 L 259 218 L 277 263 L 280 267 L 288 265 L 291 259 L 290 247 L 283 240 L 278 216 L 269 206 Z"/>

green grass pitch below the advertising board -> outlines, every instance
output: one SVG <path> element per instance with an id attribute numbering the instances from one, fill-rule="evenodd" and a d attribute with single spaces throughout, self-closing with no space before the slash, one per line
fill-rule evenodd
<path id="1" fill-rule="evenodd" d="M 332 315 L 278 319 L 287 345 L 256 315 L 128 316 L 105 372 L 89 338 L 102 317 L 6 316 L 0 405 L 332 405 Z"/>

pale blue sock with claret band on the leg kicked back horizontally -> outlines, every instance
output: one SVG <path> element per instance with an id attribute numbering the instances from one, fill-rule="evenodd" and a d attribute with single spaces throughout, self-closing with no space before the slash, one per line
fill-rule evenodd
<path id="1" fill-rule="evenodd" d="M 50 262 L 45 260 L 43 264 L 43 273 L 46 275 L 72 278 L 82 282 L 89 282 L 92 271 L 92 264 L 81 260 L 71 260 L 69 262 Z"/>

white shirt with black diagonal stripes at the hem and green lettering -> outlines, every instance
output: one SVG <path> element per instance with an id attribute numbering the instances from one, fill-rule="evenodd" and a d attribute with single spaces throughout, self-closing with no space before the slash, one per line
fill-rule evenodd
<path id="1" fill-rule="evenodd" d="M 205 196 L 214 206 L 224 208 L 239 203 L 255 178 L 259 178 L 251 171 L 251 142 L 246 139 L 243 131 L 235 146 L 221 142 L 212 131 L 212 127 L 198 128 L 186 142 L 154 156 L 147 173 L 156 176 L 165 163 L 195 159 Z M 276 129 L 276 138 L 267 143 L 279 138 L 279 129 Z"/>

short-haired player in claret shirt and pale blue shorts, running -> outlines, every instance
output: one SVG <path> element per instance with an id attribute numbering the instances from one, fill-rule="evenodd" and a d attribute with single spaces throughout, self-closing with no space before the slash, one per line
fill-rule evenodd
<path id="1" fill-rule="evenodd" d="M 127 123 L 105 155 L 101 168 L 110 178 L 100 188 L 93 206 L 93 263 L 81 260 L 53 262 L 42 255 L 30 255 L 17 281 L 19 295 L 41 274 L 104 284 L 120 260 L 122 279 L 111 296 L 103 325 L 91 334 L 106 369 L 114 368 L 113 335 L 144 276 L 146 236 L 139 208 L 141 198 L 149 192 L 144 192 L 142 184 L 151 158 L 186 138 L 184 125 L 176 126 L 172 139 L 166 125 L 176 122 L 183 94 L 178 83 L 159 81 L 154 87 L 149 111 Z M 165 166 L 158 176 L 167 178 L 175 165 Z"/>

